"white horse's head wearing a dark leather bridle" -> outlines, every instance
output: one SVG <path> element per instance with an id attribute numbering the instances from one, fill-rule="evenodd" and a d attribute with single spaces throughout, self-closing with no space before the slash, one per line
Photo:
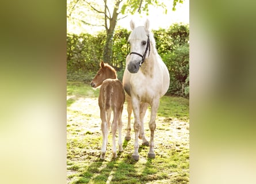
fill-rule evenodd
<path id="1" fill-rule="evenodd" d="M 128 57 L 127 69 L 131 73 L 139 71 L 140 66 L 150 56 L 151 36 L 148 30 L 150 22 L 147 20 L 144 26 L 135 28 L 133 21 L 130 22 L 132 33 L 129 36 L 128 42 L 131 45 L 131 52 Z"/>

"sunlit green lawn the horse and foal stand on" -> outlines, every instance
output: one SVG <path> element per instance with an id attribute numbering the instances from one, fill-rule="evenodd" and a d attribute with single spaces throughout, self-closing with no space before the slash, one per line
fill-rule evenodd
<path id="1" fill-rule="evenodd" d="M 149 148 L 142 146 L 139 140 L 138 162 L 131 158 L 134 132 L 131 132 L 130 141 L 124 140 L 127 125 L 125 103 L 122 136 L 124 152 L 112 159 L 112 135 L 109 133 L 106 159 L 102 161 L 98 91 L 85 83 L 67 83 L 67 183 L 189 183 L 188 99 L 161 98 L 154 137 L 156 158 L 147 158 Z M 147 122 L 150 112 L 146 116 L 144 129 L 149 140 Z"/>

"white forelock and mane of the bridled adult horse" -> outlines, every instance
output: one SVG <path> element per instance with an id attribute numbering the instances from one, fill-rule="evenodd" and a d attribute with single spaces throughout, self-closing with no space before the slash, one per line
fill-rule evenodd
<path id="1" fill-rule="evenodd" d="M 150 36 L 150 42 L 152 44 L 152 51 L 153 53 L 157 53 L 155 48 L 155 39 L 154 34 L 150 32 L 149 30 L 145 30 L 144 26 L 138 26 L 131 32 L 128 40 L 140 40 L 145 39 L 145 32 Z"/>

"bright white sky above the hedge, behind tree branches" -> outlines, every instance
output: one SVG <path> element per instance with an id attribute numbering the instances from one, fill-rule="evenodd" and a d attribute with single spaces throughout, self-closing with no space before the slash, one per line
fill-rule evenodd
<path id="1" fill-rule="evenodd" d="M 70 0 L 67 1 L 67 3 Z M 103 2 L 103 1 L 102 1 Z M 102 3 L 101 1 L 97 3 Z M 149 6 L 148 11 L 150 14 L 147 16 L 146 13 L 135 13 L 133 15 L 131 14 L 119 14 L 120 20 L 117 21 L 117 27 L 130 29 L 129 22 L 133 20 L 136 22 L 137 25 L 144 25 L 144 21 L 146 18 L 150 20 L 150 28 L 151 29 L 159 29 L 164 28 L 167 29 L 170 27 L 171 24 L 174 23 L 184 23 L 189 24 L 189 1 L 185 0 L 183 3 L 177 3 L 176 10 L 173 11 L 173 1 L 164 0 L 161 1 L 165 3 L 167 7 L 167 13 L 165 13 L 165 10 L 162 7 L 155 7 L 155 6 Z M 100 4 L 101 5 L 101 4 Z M 103 3 L 101 5 L 103 7 Z M 113 6 L 112 6 L 113 7 Z M 72 12 L 72 16 L 77 17 L 79 20 L 87 20 L 89 19 L 91 21 L 91 24 L 95 25 L 104 25 L 104 21 L 101 19 L 98 19 L 99 14 L 95 14 L 93 11 L 88 11 L 86 9 L 81 9 L 82 12 L 86 11 L 86 16 L 83 15 L 83 13 Z M 110 10 L 111 12 L 111 10 Z M 154 12 L 154 13 L 151 13 Z M 123 18 L 124 17 L 124 18 Z M 90 26 L 86 24 L 74 24 L 74 21 L 70 21 L 70 19 L 67 18 L 67 32 L 68 33 L 90 33 L 95 34 L 98 31 L 105 30 L 104 26 Z"/>

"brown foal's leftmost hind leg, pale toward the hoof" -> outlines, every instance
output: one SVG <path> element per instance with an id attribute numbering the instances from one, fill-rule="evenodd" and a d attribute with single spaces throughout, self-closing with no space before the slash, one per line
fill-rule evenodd
<path id="1" fill-rule="evenodd" d="M 106 111 L 101 109 L 101 131 L 102 131 L 102 147 L 101 147 L 101 159 L 105 159 L 106 144 L 108 142 L 108 123 L 106 122 Z"/>

